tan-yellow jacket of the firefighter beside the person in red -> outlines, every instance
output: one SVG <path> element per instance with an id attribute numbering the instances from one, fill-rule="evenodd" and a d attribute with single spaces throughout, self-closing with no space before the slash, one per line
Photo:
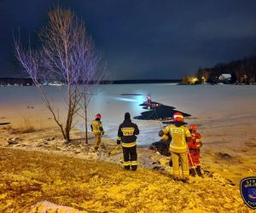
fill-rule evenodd
<path id="1" fill-rule="evenodd" d="M 183 125 L 177 127 L 174 124 L 166 126 L 162 132 L 165 135 L 170 135 L 172 141 L 170 144 L 170 151 L 173 153 L 187 153 L 186 138 L 191 137 L 189 129 Z M 160 135 L 161 136 L 161 135 Z"/>

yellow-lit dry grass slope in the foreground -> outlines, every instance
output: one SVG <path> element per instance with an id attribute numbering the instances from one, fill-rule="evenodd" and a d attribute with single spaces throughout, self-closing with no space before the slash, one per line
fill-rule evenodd
<path id="1" fill-rule="evenodd" d="M 0 211 L 48 200 L 88 212 L 246 211 L 237 187 L 216 178 L 174 182 L 153 170 L 49 153 L 0 149 Z"/>

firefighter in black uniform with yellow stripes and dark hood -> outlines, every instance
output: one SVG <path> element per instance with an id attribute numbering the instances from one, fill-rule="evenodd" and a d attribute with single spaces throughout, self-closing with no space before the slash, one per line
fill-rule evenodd
<path id="1" fill-rule="evenodd" d="M 131 115 L 129 112 L 126 112 L 124 122 L 119 125 L 117 136 L 117 144 L 121 144 L 123 147 L 125 170 L 137 170 L 136 135 L 138 134 L 137 124 L 131 123 Z"/>

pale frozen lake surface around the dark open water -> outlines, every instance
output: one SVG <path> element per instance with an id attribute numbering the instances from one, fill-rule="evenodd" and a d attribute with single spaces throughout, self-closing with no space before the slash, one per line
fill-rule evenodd
<path id="1" fill-rule="evenodd" d="M 59 109 L 60 113 L 65 111 L 65 87 L 48 86 L 44 89 L 55 101 L 55 109 Z M 93 119 L 96 113 L 101 113 L 103 127 L 110 138 L 116 137 L 125 112 L 130 112 L 133 118 L 146 111 L 139 104 L 146 100 L 148 94 L 151 95 L 152 101 L 191 114 L 192 120 L 199 118 L 203 122 L 208 118 L 217 120 L 256 116 L 255 85 L 112 84 L 101 85 L 99 89 L 100 92 L 90 101 L 89 119 Z M 1 87 L 0 107 L 0 118 L 21 119 L 27 113 L 30 116 L 50 117 L 35 87 Z M 33 107 L 33 110 L 28 111 L 28 107 Z M 191 118 L 187 121 L 191 121 Z M 76 121 L 77 127 L 83 130 L 83 120 L 78 117 Z M 159 121 L 133 119 L 133 122 L 137 123 L 141 130 L 138 144 L 150 144 L 159 140 L 157 133 L 163 126 Z"/>

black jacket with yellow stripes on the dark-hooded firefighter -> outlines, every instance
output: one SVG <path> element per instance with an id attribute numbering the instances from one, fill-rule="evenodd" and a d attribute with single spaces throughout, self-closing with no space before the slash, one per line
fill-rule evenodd
<path id="1" fill-rule="evenodd" d="M 136 146 L 136 139 L 139 134 L 137 124 L 133 124 L 131 119 L 125 119 L 125 121 L 119 125 L 117 140 L 121 141 L 122 147 L 134 147 Z"/>

